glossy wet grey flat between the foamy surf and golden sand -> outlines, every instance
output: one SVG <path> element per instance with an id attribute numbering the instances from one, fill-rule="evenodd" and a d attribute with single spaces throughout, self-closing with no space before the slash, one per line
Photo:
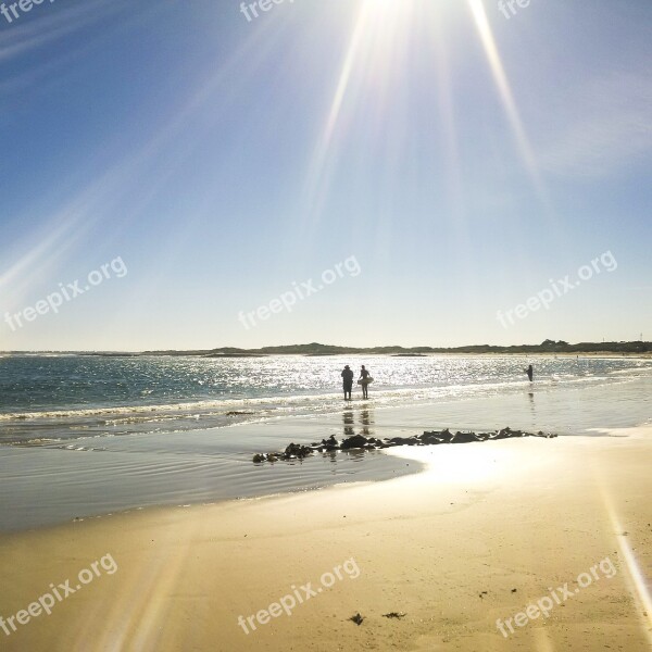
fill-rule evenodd
<path id="1" fill-rule="evenodd" d="M 535 384 L 536 386 L 536 384 Z M 380 451 L 316 453 L 305 460 L 254 464 L 258 453 L 335 436 L 389 439 L 425 430 L 513 429 L 593 438 L 600 428 L 644 422 L 650 378 L 579 390 L 524 383 L 509 396 L 387 406 L 340 401 L 337 412 L 268 418 L 226 428 L 126 436 L 77 436 L 38 446 L 0 447 L 3 531 L 42 528 L 154 505 L 202 504 L 330 485 L 387 480 L 419 471 Z M 617 405 L 626 408 L 617 409 Z M 638 408 L 637 408 L 638 405 Z M 465 443 L 464 450 L 494 442 Z M 441 446 L 434 447 L 441 450 Z M 469 453 L 471 454 L 471 453 Z"/>

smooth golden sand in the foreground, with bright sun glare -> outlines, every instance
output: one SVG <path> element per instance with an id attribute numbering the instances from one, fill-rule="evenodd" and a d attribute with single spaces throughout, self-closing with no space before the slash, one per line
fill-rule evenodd
<path id="1" fill-rule="evenodd" d="M 100 575 L 51 615 L 14 620 L 11 636 L 0 629 L 1 649 L 652 649 L 652 428 L 392 453 L 430 466 L 386 482 L 4 536 L 5 622 L 51 582 L 71 579 L 75 588 L 79 570 L 103 555 L 117 570 L 96 566 Z M 599 579 L 580 589 L 578 575 L 606 557 L 616 574 L 598 567 Z M 353 561 L 339 570 L 342 579 L 291 616 L 250 634 L 238 626 L 239 615 L 278 602 L 292 585 L 316 589 L 346 560 Z M 509 638 L 497 629 L 497 618 L 514 618 L 565 582 L 573 595 L 548 618 L 513 624 Z M 358 612 L 360 626 L 348 619 Z M 383 617 L 389 612 L 405 616 Z"/>

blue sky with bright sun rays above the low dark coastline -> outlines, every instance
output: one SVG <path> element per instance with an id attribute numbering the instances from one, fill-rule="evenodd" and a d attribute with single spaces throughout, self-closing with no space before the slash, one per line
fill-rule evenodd
<path id="1" fill-rule="evenodd" d="M 649 0 L 11 4 L 0 350 L 652 339 Z"/>

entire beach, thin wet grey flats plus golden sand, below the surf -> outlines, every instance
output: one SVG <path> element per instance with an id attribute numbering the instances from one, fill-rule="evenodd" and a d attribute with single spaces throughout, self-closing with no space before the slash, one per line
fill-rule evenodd
<path id="1" fill-rule="evenodd" d="M 613 376 L 0 447 L 3 649 L 652 649 L 652 379 Z M 560 437 L 253 463 L 506 426 Z"/>

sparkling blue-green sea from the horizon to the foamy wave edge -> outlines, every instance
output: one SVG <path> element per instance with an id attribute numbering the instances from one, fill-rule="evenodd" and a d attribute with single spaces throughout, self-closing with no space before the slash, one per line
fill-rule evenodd
<path id="1" fill-rule="evenodd" d="M 175 432 L 311 416 L 341 406 L 340 371 L 365 364 L 376 408 L 518 396 L 526 356 L 261 359 L 10 355 L 0 359 L 0 443 Z M 535 389 L 613 387 L 652 374 L 629 358 L 537 358 Z M 354 392 L 360 393 L 359 388 Z"/>

